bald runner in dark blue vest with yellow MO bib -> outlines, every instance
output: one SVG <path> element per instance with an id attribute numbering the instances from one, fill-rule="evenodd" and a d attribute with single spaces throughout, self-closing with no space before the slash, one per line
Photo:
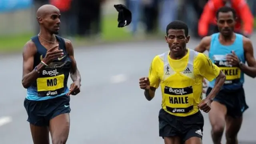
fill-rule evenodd
<path id="1" fill-rule="evenodd" d="M 34 144 L 66 144 L 70 128 L 70 95 L 80 92 L 81 76 L 69 40 L 56 36 L 60 11 L 43 5 L 37 11 L 40 33 L 23 50 L 24 107 Z M 73 81 L 67 86 L 68 77 Z"/>

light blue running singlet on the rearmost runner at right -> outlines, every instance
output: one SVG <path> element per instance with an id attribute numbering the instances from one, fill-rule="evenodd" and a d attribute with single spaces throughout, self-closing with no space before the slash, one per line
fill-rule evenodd
<path id="1" fill-rule="evenodd" d="M 222 89 L 236 90 L 242 88 L 244 83 L 244 73 L 238 67 L 233 67 L 226 61 L 226 55 L 232 54 L 234 51 L 240 61 L 245 63 L 244 48 L 243 48 L 243 36 L 236 34 L 236 40 L 229 46 L 224 46 L 219 41 L 219 33 L 212 34 L 212 40 L 209 50 L 209 58 L 214 64 L 216 64 L 222 72 L 226 75 L 226 81 Z M 209 87 L 213 88 L 215 80 L 209 83 Z"/>

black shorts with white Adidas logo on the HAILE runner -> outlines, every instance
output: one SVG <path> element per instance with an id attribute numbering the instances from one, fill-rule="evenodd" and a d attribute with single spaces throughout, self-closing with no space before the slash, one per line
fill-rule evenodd
<path id="1" fill-rule="evenodd" d="M 178 136 L 184 143 L 192 137 L 203 137 L 204 117 L 200 111 L 186 117 L 174 116 L 163 109 L 159 111 L 159 136 Z"/>

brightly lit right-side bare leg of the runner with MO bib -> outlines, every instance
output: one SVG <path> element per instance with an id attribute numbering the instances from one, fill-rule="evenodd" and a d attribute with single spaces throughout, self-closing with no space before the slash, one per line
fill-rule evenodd
<path id="1" fill-rule="evenodd" d="M 70 128 L 69 114 L 60 114 L 50 120 L 52 144 L 66 144 Z"/>

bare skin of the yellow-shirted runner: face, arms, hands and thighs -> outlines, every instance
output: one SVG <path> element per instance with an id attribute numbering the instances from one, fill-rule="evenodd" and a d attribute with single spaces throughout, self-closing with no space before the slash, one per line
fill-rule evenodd
<path id="1" fill-rule="evenodd" d="M 170 29 L 168 30 L 168 35 L 165 36 L 165 39 L 170 48 L 170 58 L 177 60 L 183 58 L 187 54 L 188 50 L 186 48 L 186 44 L 189 42 L 190 36 L 186 36 L 184 30 Z M 200 110 L 203 110 L 206 113 L 211 110 L 210 103 L 212 102 L 212 98 L 216 96 L 221 86 L 224 84 L 225 75 L 220 72 L 217 79 L 218 82 L 216 83 L 216 86 L 214 86 L 210 97 L 205 98 L 198 104 Z M 156 88 L 150 86 L 149 78 L 140 78 L 139 84 L 140 88 L 144 90 L 146 99 L 149 101 L 152 100 L 152 98 L 154 98 Z M 165 144 L 181 144 L 181 139 L 178 136 L 165 137 L 164 142 Z M 198 137 L 192 137 L 186 140 L 185 144 L 202 144 L 202 140 Z"/>

